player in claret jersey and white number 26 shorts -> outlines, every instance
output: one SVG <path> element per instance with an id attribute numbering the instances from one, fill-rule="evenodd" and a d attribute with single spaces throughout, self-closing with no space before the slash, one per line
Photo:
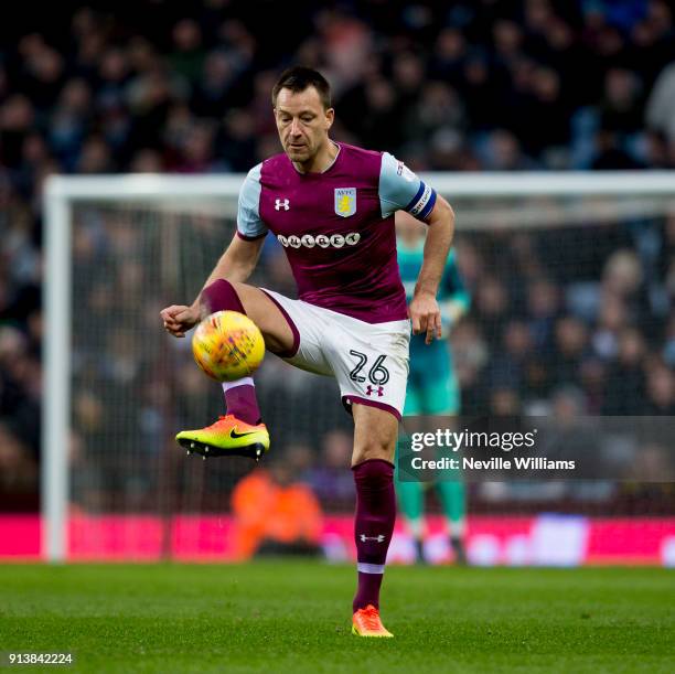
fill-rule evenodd
<path id="1" fill-rule="evenodd" d="M 379 618 L 379 588 L 396 516 L 393 461 L 410 322 L 428 343 L 440 338 L 436 293 L 454 215 L 390 154 L 329 138 L 334 110 L 320 73 L 286 71 L 272 89 L 272 107 L 283 153 L 249 171 L 239 194 L 237 232 L 195 301 L 168 307 L 161 317 L 171 334 L 184 336 L 205 314 L 246 313 L 269 351 L 338 379 L 354 418 L 358 582 L 352 631 L 390 636 Z M 394 213 L 400 208 L 429 228 L 409 307 L 396 259 Z M 286 250 L 298 300 L 245 282 L 268 232 Z M 253 379 L 223 388 L 227 415 L 207 428 L 180 432 L 178 441 L 208 456 L 267 449 Z"/>

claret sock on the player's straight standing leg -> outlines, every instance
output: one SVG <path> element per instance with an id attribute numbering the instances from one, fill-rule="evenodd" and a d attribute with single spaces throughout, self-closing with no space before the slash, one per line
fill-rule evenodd
<path id="1" fill-rule="evenodd" d="M 369 459 L 353 469 L 356 483 L 356 541 L 358 589 L 353 610 L 379 608 L 379 587 L 396 520 L 394 466 Z"/>

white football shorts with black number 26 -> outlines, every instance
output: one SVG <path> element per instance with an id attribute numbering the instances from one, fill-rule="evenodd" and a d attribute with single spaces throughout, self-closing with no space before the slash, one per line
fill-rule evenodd
<path id="1" fill-rule="evenodd" d="M 287 363 L 334 376 L 342 403 L 378 407 L 400 420 L 408 381 L 410 321 L 366 323 L 358 319 L 261 290 L 279 307 L 293 331 Z"/>

